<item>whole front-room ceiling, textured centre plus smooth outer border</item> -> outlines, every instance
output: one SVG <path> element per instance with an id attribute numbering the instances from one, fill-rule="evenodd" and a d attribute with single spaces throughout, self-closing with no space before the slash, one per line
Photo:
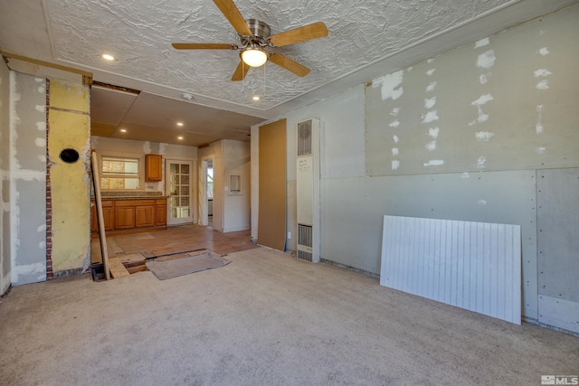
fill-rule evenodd
<path id="1" fill-rule="evenodd" d="M 328 36 L 276 49 L 311 72 L 268 63 L 231 77 L 239 52 L 171 42 L 237 43 L 211 0 L 19 0 L 0 3 L 0 48 L 90 71 L 94 79 L 260 118 L 326 98 L 576 0 L 233 0 L 271 34 L 323 22 Z M 118 60 L 105 62 L 102 52 Z M 254 94 L 260 101 L 252 100 Z"/>

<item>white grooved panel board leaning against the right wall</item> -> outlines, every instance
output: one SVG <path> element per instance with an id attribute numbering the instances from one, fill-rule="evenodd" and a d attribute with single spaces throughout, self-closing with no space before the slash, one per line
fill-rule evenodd
<path id="1" fill-rule="evenodd" d="M 380 285 L 520 325 L 520 226 L 385 215 Z"/>

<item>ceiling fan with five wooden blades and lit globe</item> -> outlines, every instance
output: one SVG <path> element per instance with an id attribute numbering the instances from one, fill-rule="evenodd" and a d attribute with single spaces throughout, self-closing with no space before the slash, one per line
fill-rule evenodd
<path id="1" fill-rule="evenodd" d="M 239 34 L 241 44 L 174 42 L 173 48 L 176 50 L 241 50 L 241 60 L 233 72 L 232 80 L 243 80 L 251 67 L 260 67 L 266 61 L 271 61 L 299 77 L 308 75 L 307 67 L 272 49 L 325 37 L 327 36 L 326 24 L 321 22 L 308 24 L 270 36 L 271 29 L 268 24 L 256 19 L 244 20 L 237 6 L 233 4 L 233 0 L 214 0 L 214 3 Z"/>

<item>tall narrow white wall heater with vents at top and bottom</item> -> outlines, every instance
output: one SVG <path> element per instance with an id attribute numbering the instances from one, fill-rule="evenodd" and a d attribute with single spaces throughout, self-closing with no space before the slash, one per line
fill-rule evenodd
<path id="1" fill-rule="evenodd" d="M 296 201 L 298 258 L 319 262 L 321 257 L 319 202 L 319 119 L 298 122 Z"/>

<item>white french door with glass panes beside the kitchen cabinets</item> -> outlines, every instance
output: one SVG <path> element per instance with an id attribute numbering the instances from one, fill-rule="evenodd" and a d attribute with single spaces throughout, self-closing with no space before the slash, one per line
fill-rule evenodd
<path id="1" fill-rule="evenodd" d="M 167 225 L 193 222 L 193 163 L 166 160 L 169 194 Z"/>

